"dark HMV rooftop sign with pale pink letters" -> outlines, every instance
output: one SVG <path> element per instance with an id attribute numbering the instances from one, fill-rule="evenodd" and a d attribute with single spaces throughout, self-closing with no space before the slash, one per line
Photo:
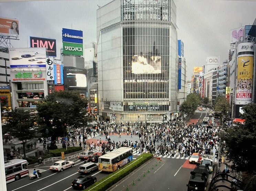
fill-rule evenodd
<path id="1" fill-rule="evenodd" d="M 31 48 L 46 48 L 46 56 L 56 57 L 56 39 L 30 37 Z"/>

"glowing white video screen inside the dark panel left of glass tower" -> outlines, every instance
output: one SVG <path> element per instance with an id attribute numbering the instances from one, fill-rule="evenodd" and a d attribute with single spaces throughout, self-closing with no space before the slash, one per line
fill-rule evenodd
<path id="1" fill-rule="evenodd" d="M 85 74 L 67 74 L 69 87 L 87 87 Z"/>

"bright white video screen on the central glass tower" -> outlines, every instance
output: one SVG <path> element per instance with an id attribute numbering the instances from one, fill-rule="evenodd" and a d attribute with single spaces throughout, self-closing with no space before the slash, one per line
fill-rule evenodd
<path id="1" fill-rule="evenodd" d="M 161 73 L 161 56 L 134 55 L 131 61 L 131 73 L 159 74 Z"/>

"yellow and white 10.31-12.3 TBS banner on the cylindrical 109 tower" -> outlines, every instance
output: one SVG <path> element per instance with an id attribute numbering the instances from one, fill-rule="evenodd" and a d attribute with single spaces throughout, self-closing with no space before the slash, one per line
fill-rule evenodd
<path id="1" fill-rule="evenodd" d="M 237 62 L 237 100 L 252 99 L 253 56 L 238 57 Z"/>

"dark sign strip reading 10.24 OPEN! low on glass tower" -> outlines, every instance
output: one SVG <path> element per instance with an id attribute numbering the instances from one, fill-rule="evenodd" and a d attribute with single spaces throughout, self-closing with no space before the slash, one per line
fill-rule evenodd
<path id="1" fill-rule="evenodd" d="M 124 111 L 168 111 L 169 105 L 159 104 L 134 104 L 124 105 Z"/>

